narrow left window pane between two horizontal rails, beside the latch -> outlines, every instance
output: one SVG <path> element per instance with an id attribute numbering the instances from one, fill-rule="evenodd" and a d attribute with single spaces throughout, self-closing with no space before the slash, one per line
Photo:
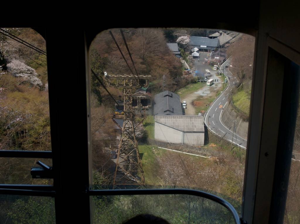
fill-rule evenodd
<path id="1" fill-rule="evenodd" d="M 52 166 L 52 159 L 38 158 L 0 158 L 0 184 L 53 184 L 53 179 L 32 178 L 31 168 L 41 167 L 41 161 Z"/>

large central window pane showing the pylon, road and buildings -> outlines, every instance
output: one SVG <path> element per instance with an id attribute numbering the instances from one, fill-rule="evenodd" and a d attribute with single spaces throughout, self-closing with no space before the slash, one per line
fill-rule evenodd
<path id="1" fill-rule="evenodd" d="M 193 188 L 241 204 L 254 46 L 232 31 L 98 34 L 89 49 L 94 188 Z"/>

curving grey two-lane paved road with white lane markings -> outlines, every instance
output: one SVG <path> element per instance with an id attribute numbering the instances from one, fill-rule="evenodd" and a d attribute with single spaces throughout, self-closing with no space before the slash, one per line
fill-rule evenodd
<path id="1" fill-rule="evenodd" d="M 221 121 L 221 114 L 223 112 L 223 108 L 228 103 L 228 97 L 229 93 L 232 91 L 232 88 L 234 88 L 234 85 L 238 82 L 238 79 L 232 75 L 230 72 L 230 59 L 225 61 L 221 66 L 220 70 L 223 71 L 224 66 L 229 66 L 229 69 L 225 68 L 225 74 L 227 77 L 229 77 L 229 86 L 226 89 L 226 91 L 221 94 L 221 96 L 214 102 L 214 104 L 211 106 L 211 108 L 208 110 L 204 122 L 206 126 L 216 133 L 217 135 L 223 137 L 224 139 L 228 140 L 229 142 L 232 141 L 232 134 L 233 134 L 233 122 L 232 127 L 226 127 L 222 121 Z M 241 136 L 238 136 L 236 133 L 233 135 L 233 144 L 240 145 L 242 148 L 247 147 L 247 140 L 242 138 Z"/>

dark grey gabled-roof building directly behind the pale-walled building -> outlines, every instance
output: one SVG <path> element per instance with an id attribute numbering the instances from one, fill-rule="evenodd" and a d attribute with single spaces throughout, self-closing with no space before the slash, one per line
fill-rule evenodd
<path id="1" fill-rule="evenodd" d="M 180 96 L 168 90 L 155 95 L 153 107 L 154 115 L 182 115 Z"/>

